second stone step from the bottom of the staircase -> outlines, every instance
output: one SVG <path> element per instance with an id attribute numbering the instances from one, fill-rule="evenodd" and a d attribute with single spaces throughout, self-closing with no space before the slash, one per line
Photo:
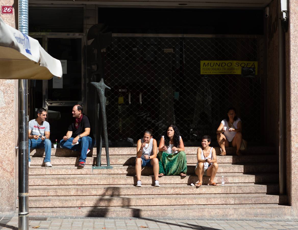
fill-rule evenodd
<path id="1" fill-rule="evenodd" d="M 157 191 L 158 192 L 158 191 Z M 286 195 L 263 194 L 211 194 L 198 195 L 117 195 L 111 196 L 59 196 L 59 197 L 29 197 L 30 208 L 55 207 L 142 207 L 187 205 L 226 205 L 226 204 L 284 204 Z"/>

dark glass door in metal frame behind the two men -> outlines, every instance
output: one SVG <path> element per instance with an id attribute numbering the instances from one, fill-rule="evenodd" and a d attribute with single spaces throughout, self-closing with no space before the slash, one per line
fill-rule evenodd
<path id="1" fill-rule="evenodd" d="M 60 141 L 72 118 L 72 107 L 83 103 L 83 36 L 47 35 L 46 51 L 61 61 L 63 76 L 43 82 L 44 108 L 48 111 L 51 141 Z"/>

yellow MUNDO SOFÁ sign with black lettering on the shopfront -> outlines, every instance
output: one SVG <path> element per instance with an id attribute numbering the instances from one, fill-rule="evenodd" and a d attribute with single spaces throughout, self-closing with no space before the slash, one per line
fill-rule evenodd
<path id="1" fill-rule="evenodd" d="M 201 61 L 201 74 L 241 74 L 245 72 L 257 75 L 257 61 Z"/>

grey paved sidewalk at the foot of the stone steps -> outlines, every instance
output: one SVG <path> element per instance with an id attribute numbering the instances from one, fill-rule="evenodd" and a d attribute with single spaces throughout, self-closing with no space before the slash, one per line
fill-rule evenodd
<path id="1" fill-rule="evenodd" d="M 0 215 L 0 230 L 4 229 L 18 229 L 18 215 Z M 29 229 L 298 229 L 298 220 L 171 217 L 29 217 Z"/>

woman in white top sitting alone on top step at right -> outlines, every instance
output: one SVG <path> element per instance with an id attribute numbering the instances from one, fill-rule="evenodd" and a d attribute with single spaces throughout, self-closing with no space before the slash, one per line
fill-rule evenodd
<path id="1" fill-rule="evenodd" d="M 242 124 L 240 118 L 236 116 L 236 109 L 228 109 L 228 117 L 221 121 L 217 128 L 217 141 L 222 149 L 220 156 L 226 155 L 225 147 L 236 147 L 236 154 L 240 155 L 242 142 Z"/>

